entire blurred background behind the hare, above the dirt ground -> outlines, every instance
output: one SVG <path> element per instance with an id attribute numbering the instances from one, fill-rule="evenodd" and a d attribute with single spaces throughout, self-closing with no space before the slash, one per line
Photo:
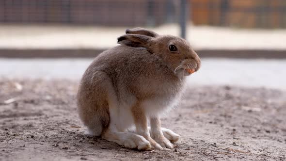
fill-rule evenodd
<path id="1" fill-rule="evenodd" d="M 286 0 L 0 0 L 0 77 L 79 79 L 134 27 L 186 38 L 192 83 L 286 89 Z"/>

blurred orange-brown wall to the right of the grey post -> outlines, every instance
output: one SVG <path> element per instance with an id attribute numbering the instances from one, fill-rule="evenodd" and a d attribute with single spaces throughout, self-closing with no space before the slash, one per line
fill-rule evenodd
<path id="1" fill-rule="evenodd" d="M 195 25 L 286 28 L 286 0 L 191 0 Z"/>

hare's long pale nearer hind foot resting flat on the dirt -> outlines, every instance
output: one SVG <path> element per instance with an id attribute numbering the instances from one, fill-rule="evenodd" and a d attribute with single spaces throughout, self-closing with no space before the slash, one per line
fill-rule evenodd
<path id="1" fill-rule="evenodd" d="M 102 138 L 127 148 L 137 148 L 138 150 L 151 148 L 150 143 L 143 136 L 131 132 L 118 132 L 108 129 L 103 133 Z"/>

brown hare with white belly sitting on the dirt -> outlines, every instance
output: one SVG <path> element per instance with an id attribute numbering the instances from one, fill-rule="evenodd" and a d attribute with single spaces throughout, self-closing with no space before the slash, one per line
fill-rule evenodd
<path id="1" fill-rule="evenodd" d="M 160 115 L 178 103 L 185 77 L 201 66 L 199 56 L 186 40 L 143 28 L 127 29 L 118 43 L 83 74 L 80 119 L 91 135 L 127 148 L 173 148 L 180 136 L 161 128 Z"/>

